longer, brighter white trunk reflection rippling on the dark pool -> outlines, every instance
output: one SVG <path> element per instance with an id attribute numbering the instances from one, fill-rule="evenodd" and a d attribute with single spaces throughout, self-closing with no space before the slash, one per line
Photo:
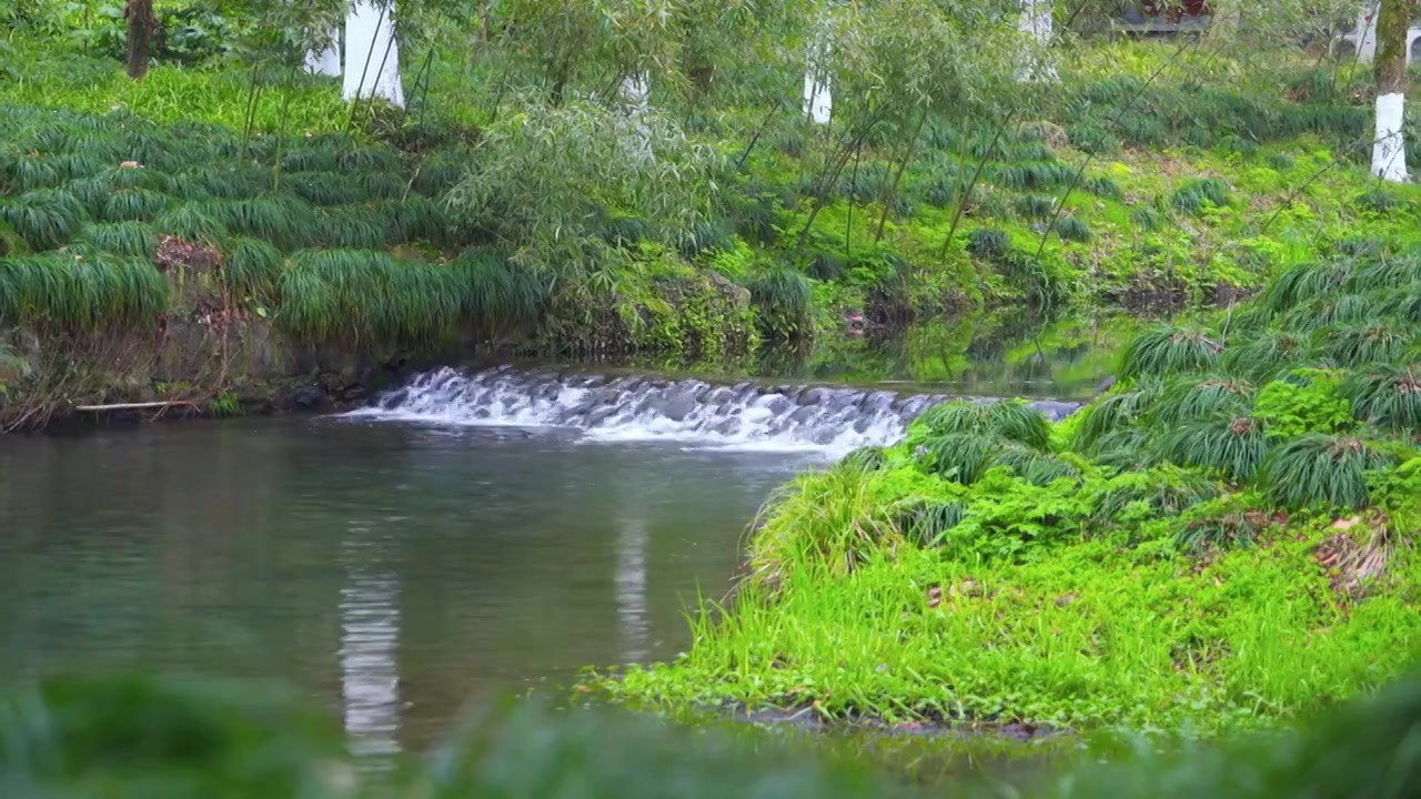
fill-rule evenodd
<path id="1" fill-rule="evenodd" d="M 341 695 L 351 754 L 389 756 L 399 752 L 399 577 L 368 549 L 360 540 L 344 546 Z"/>

